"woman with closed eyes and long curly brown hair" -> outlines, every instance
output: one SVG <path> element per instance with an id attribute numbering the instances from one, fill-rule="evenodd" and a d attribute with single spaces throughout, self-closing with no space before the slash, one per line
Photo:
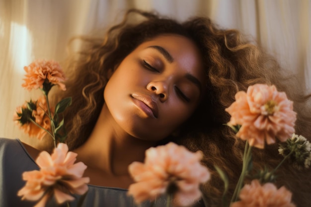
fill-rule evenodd
<path id="1" fill-rule="evenodd" d="M 133 13 L 146 20 L 131 22 Z M 230 119 L 225 108 L 237 91 L 255 83 L 273 83 L 296 100 L 296 133 L 310 136 L 311 116 L 303 116 L 304 105 L 299 104 L 308 97 L 302 98 L 294 83 L 282 78 L 278 64 L 236 30 L 218 29 L 206 18 L 180 24 L 130 10 L 103 40 L 83 40 L 86 49 L 70 66 L 68 90 L 56 97 L 73 98 L 65 114 L 66 141 L 78 153 L 78 161 L 88 166 L 88 206 L 130 206 L 124 191 L 133 182 L 127 166 L 143 161 L 150 146 L 168 141 L 204 152 L 203 162 L 213 171 L 202 188 L 205 205 L 220 206 L 223 183 L 214 166 L 228 172 L 232 194 L 243 150 L 243 142 L 223 125 Z M 275 166 L 281 159 L 277 145 L 255 151 L 253 157 L 257 167 L 266 160 Z M 311 187 L 305 179 L 310 171 L 286 166 L 279 172 L 278 185 L 291 189 L 297 206 L 307 205 Z M 305 193 L 296 193 L 299 185 Z"/>

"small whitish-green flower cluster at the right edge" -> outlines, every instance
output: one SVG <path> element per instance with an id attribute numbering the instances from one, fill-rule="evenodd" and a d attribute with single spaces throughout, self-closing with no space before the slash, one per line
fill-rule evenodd
<path id="1" fill-rule="evenodd" d="M 289 157 L 292 163 L 298 168 L 309 168 L 311 163 L 311 143 L 303 136 L 293 134 L 286 140 L 285 144 L 280 144 L 279 153 L 284 157 Z"/>

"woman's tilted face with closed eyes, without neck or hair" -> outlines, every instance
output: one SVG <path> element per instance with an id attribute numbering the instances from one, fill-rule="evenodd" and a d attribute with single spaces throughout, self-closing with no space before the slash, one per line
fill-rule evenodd
<path id="1" fill-rule="evenodd" d="M 104 107 L 129 135 L 160 140 L 192 115 L 205 80 L 194 43 L 179 35 L 160 35 L 121 62 L 106 85 Z"/>

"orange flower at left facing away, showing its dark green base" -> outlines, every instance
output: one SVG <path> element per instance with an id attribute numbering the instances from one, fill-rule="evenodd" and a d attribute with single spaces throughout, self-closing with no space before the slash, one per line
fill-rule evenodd
<path id="1" fill-rule="evenodd" d="M 32 105 L 32 111 L 28 109 L 28 103 Z M 51 120 L 46 115 L 47 110 L 46 98 L 45 96 L 41 96 L 36 102 L 25 102 L 22 106 L 17 107 L 13 120 L 20 126 L 21 130 L 29 135 L 29 137 L 42 139 L 46 135 L 46 131 L 30 122 L 27 117 L 49 131 L 51 129 Z"/>

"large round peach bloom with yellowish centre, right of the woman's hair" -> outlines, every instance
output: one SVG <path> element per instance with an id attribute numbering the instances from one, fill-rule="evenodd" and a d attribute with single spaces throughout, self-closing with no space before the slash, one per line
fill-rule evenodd
<path id="1" fill-rule="evenodd" d="M 263 148 L 265 141 L 275 143 L 275 137 L 286 141 L 295 132 L 293 102 L 274 85 L 255 84 L 246 93 L 237 92 L 226 111 L 231 115 L 229 126 L 241 125 L 236 136 L 258 148 Z"/>

